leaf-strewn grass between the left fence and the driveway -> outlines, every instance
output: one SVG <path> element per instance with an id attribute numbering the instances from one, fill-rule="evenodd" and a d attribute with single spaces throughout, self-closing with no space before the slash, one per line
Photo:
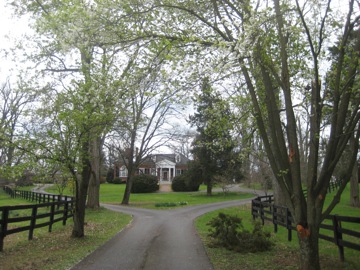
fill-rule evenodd
<path id="1" fill-rule="evenodd" d="M 104 208 L 86 211 L 85 237 L 71 238 L 72 221 L 66 226 L 53 225 L 36 229 L 34 239 L 28 232 L 5 237 L 4 252 L 0 252 L 0 269 L 69 269 L 96 248 L 110 240 L 129 222 L 131 216 Z"/>

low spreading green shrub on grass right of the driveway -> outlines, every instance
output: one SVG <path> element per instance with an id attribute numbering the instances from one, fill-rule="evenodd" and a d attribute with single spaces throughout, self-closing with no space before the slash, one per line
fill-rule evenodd
<path id="1" fill-rule="evenodd" d="M 249 232 L 244 229 L 241 218 L 219 213 L 208 225 L 211 226 L 208 234 L 211 238 L 210 245 L 214 247 L 254 253 L 270 250 L 273 246 L 270 233 L 264 232 L 259 222 L 255 223 L 253 231 Z"/>

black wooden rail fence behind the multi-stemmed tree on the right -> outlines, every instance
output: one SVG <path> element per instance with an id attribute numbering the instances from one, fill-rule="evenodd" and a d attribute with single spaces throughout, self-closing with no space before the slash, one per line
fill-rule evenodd
<path id="1" fill-rule="evenodd" d="M 272 222 L 274 232 L 277 232 L 278 226 L 285 227 L 288 230 L 288 241 L 291 241 L 292 231 L 296 231 L 294 219 L 287 207 L 275 205 L 273 201 L 273 195 L 257 197 L 251 201 L 251 214 L 254 219 L 260 218 L 263 224 L 265 220 Z M 320 233 L 319 238 L 333 242 L 338 246 L 341 261 L 345 259 L 344 247 L 360 251 L 360 244 L 343 239 L 344 236 L 360 239 L 360 231 L 349 230 L 343 227 L 345 222 L 360 224 L 360 217 L 329 215 L 325 218 L 325 221 L 330 221 L 330 223 L 323 222 L 320 228 L 331 231 L 333 236 Z"/>

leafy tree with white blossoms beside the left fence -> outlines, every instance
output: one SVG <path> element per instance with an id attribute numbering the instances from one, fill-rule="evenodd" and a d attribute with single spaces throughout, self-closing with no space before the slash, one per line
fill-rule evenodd
<path id="1" fill-rule="evenodd" d="M 118 103 L 121 74 L 133 50 L 128 47 L 122 53 L 118 45 L 125 27 L 118 24 L 116 35 L 108 35 L 108 20 L 116 20 L 118 14 L 105 2 L 19 0 L 12 4 L 20 14 L 33 15 L 37 36 L 30 40 L 33 51 L 28 59 L 49 85 L 32 115 L 36 154 L 41 152 L 41 158 L 60 163 L 72 174 L 76 182 L 72 236 L 82 237 L 88 194 L 88 205 L 99 206 L 102 139 L 122 109 Z"/>

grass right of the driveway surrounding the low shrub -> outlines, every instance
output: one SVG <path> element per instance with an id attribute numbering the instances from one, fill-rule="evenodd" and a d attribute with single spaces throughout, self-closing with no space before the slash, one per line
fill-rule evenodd
<path id="1" fill-rule="evenodd" d="M 330 195 L 330 197 L 332 197 Z M 246 229 L 252 230 L 253 220 L 250 215 L 251 206 L 244 205 L 239 207 L 232 207 L 221 209 L 215 212 L 207 213 L 199 217 L 195 221 L 195 226 L 200 237 L 204 242 L 204 246 L 209 255 L 215 270 L 232 269 L 232 270 L 284 270 L 284 269 L 299 269 L 300 258 L 298 251 L 297 235 L 293 231 L 293 240 L 287 241 L 287 230 L 283 227 L 278 227 L 278 233 L 273 233 L 273 225 L 267 222 L 264 229 L 271 232 L 272 241 L 275 247 L 269 252 L 262 253 L 248 253 L 239 254 L 224 248 L 209 248 L 207 234 L 209 226 L 207 223 L 218 213 L 237 215 L 242 218 L 243 225 Z M 341 203 L 336 206 L 333 211 L 334 214 L 359 216 L 359 209 L 353 208 L 349 205 L 349 189 L 347 188 L 342 196 Z M 359 224 L 350 225 L 347 228 L 360 231 Z M 354 239 L 353 239 L 354 241 Z M 360 240 L 357 239 L 360 244 Z M 320 240 L 320 259 L 323 270 L 343 269 L 343 270 L 357 270 L 360 265 L 359 251 L 345 248 L 345 262 L 342 263 L 339 259 L 337 246 L 331 242 Z"/>

